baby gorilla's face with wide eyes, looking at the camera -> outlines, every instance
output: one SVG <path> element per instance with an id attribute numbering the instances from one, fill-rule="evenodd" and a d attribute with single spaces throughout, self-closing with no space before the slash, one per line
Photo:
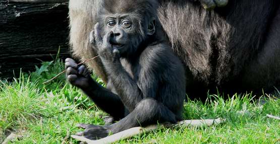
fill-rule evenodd
<path id="1" fill-rule="evenodd" d="M 143 40 L 155 33 L 154 19 L 137 19 L 123 14 L 106 15 L 103 19 L 102 36 L 112 32 L 109 42 L 113 48 L 119 50 L 121 55 L 134 53 Z M 141 25 L 145 23 L 146 26 Z"/>

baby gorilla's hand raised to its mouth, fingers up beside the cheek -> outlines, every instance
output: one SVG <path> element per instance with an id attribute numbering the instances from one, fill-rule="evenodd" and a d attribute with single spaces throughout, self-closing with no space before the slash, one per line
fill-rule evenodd
<path id="1" fill-rule="evenodd" d="M 101 56 L 101 59 L 106 62 L 113 62 L 120 58 L 119 50 L 110 44 L 110 38 L 114 35 L 112 31 L 107 32 L 104 38 L 100 35 L 99 23 L 94 26 L 94 34 L 91 33 L 90 41 L 97 47 L 97 52 Z"/>

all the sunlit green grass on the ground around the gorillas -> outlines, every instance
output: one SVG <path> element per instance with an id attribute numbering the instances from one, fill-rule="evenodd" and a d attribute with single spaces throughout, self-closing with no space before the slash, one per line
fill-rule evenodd
<path id="1" fill-rule="evenodd" d="M 13 82 L 0 81 L 0 141 L 9 131 L 21 131 L 15 143 L 78 143 L 70 134 L 77 123 L 104 124 L 102 111 L 78 89 L 65 83 L 64 76 L 47 85 L 42 82 L 64 68 L 60 60 L 44 62 L 30 74 Z M 102 81 L 95 77 L 98 82 Z M 267 98 L 259 105 L 251 95 L 234 95 L 224 100 L 209 95 L 206 103 L 185 103 L 186 119 L 226 118 L 210 127 L 160 129 L 117 143 L 280 143 L 280 121 L 266 114 L 280 115 L 280 100 Z"/>

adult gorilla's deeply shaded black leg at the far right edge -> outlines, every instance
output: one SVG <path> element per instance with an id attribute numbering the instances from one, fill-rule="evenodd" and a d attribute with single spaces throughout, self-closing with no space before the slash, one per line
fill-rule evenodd
<path id="1" fill-rule="evenodd" d="M 250 86 L 252 90 L 271 90 L 273 86 L 280 88 L 280 9 L 275 13 L 271 25 L 267 29 L 266 40 L 255 56 L 246 66 L 242 76 L 242 85 Z M 266 87 L 263 87 L 266 86 Z M 269 89 L 270 88 L 270 89 Z"/>

